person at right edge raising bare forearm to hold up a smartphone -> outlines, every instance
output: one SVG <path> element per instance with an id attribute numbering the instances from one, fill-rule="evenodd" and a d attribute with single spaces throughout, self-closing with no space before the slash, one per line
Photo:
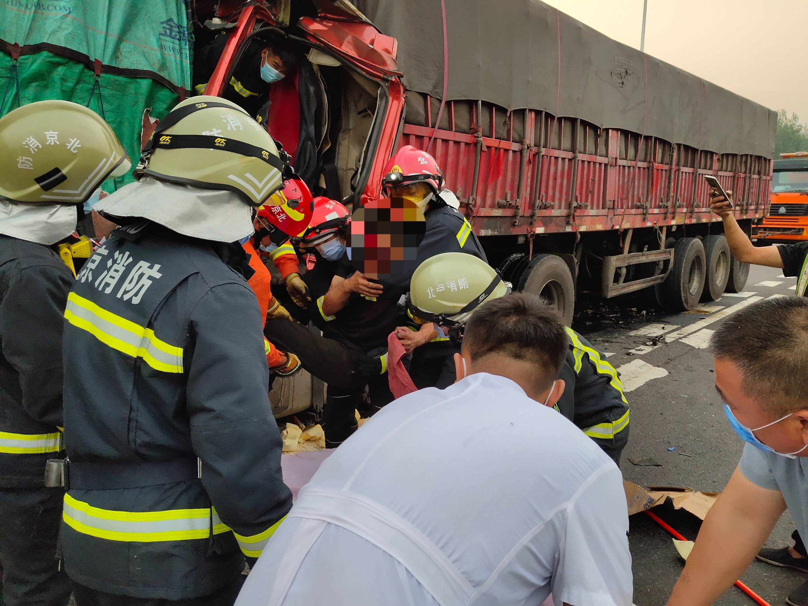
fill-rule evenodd
<path id="1" fill-rule="evenodd" d="M 808 284 L 808 241 L 794 244 L 779 244 L 775 246 L 754 246 L 747 234 L 740 228 L 732 215 L 732 204 L 724 196 L 713 189 L 711 192 L 710 208 L 713 213 L 724 221 L 724 235 L 730 245 L 730 253 L 742 263 L 753 263 L 766 267 L 781 267 L 783 276 L 798 277 L 797 297 L 803 297 Z M 732 191 L 726 192 L 732 198 Z M 808 572 L 808 551 L 802 542 L 799 532 L 795 530 L 791 537 L 793 547 L 780 549 L 764 548 L 758 553 L 758 558 L 774 566 L 785 566 Z M 808 583 L 803 583 L 789 595 L 790 604 L 808 603 Z"/>

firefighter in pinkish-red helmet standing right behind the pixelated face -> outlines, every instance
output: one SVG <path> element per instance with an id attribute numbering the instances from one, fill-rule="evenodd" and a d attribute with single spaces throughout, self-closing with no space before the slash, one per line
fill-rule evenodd
<path id="1" fill-rule="evenodd" d="M 487 262 L 469 221 L 457 211 L 457 198 L 444 187 L 444 175 L 430 154 L 405 145 L 390 158 L 382 180 L 386 196 L 414 202 L 426 218 L 426 233 L 418 247 L 417 265 L 431 256 L 448 252 L 468 253 Z M 409 280 L 409 276 L 406 276 Z M 404 289 L 409 287 L 405 284 Z M 424 324 L 411 330 L 411 324 L 398 326 L 396 335 L 407 353 L 412 353 L 410 376 L 419 388 L 443 389 L 455 381 L 454 354 L 457 343 L 440 329 Z"/>

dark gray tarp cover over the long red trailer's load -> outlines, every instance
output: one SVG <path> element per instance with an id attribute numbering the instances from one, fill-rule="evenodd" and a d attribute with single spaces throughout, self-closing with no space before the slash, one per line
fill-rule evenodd
<path id="1" fill-rule="evenodd" d="M 398 69 L 407 88 L 440 98 L 440 0 L 353 3 L 398 40 Z M 612 40 L 543 2 L 445 0 L 445 6 L 447 100 L 529 107 L 698 149 L 772 156 L 776 112 Z"/>

